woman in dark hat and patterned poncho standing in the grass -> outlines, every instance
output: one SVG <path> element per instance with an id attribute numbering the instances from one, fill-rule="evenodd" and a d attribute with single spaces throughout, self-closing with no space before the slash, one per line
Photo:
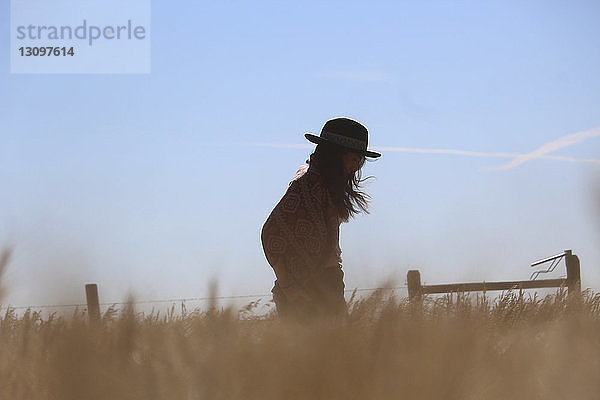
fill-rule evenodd
<path id="1" fill-rule="evenodd" d="M 367 150 L 367 128 L 348 118 L 329 120 L 320 136 L 305 137 L 317 148 L 296 173 L 261 235 L 277 277 L 272 290 L 277 311 L 296 320 L 346 312 L 339 226 L 367 212 L 369 197 L 361 190 L 360 169 L 365 157 L 381 155 Z"/>

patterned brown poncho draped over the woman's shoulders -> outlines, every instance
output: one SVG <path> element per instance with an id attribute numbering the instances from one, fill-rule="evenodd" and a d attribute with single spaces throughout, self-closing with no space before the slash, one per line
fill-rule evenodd
<path id="1" fill-rule="evenodd" d="M 265 256 L 289 298 L 321 271 L 339 267 L 340 220 L 313 160 L 300 167 L 262 229 Z"/>

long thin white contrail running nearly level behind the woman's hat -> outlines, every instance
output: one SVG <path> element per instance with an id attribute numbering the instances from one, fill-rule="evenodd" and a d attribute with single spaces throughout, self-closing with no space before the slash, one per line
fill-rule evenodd
<path id="1" fill-rule="evenodd" d="M 570 135 L 571 136 L 571 135 Z M 291 144 L 291 143 L 252 143 L 251 146 L 256 147 L 276 147 L 286 149 L 310 149 L 314 147 L 311 144 Z M 373 147 L 373 150 L 387 151 L 387 152 L 399 152 L 399 153 L 416 153 L 416 154 L 451 154 L 457 156 L 470 156 L 470 157 L 491 157 L 491 158 L 513 158 L 520 159 L 528 156 L 530 153 L 485 153 L 480 151 L 469 151 L 469 150 L 457 150 L 457 149 L 423 149 L 414 147 Z M 600 159 L 594 158 L 575 158 L 565 156 L 553 156 L 548 154 L 542 154 L 535 158 L 541 158 L 545 160 L 557 160 L 557 161 L 568 161 L 578 163 L 592 163 L 600 165 Z M 496 168 L 498 169 L 498 168 Z M 507 169 L 507 168 L 506 168 Z"/>

